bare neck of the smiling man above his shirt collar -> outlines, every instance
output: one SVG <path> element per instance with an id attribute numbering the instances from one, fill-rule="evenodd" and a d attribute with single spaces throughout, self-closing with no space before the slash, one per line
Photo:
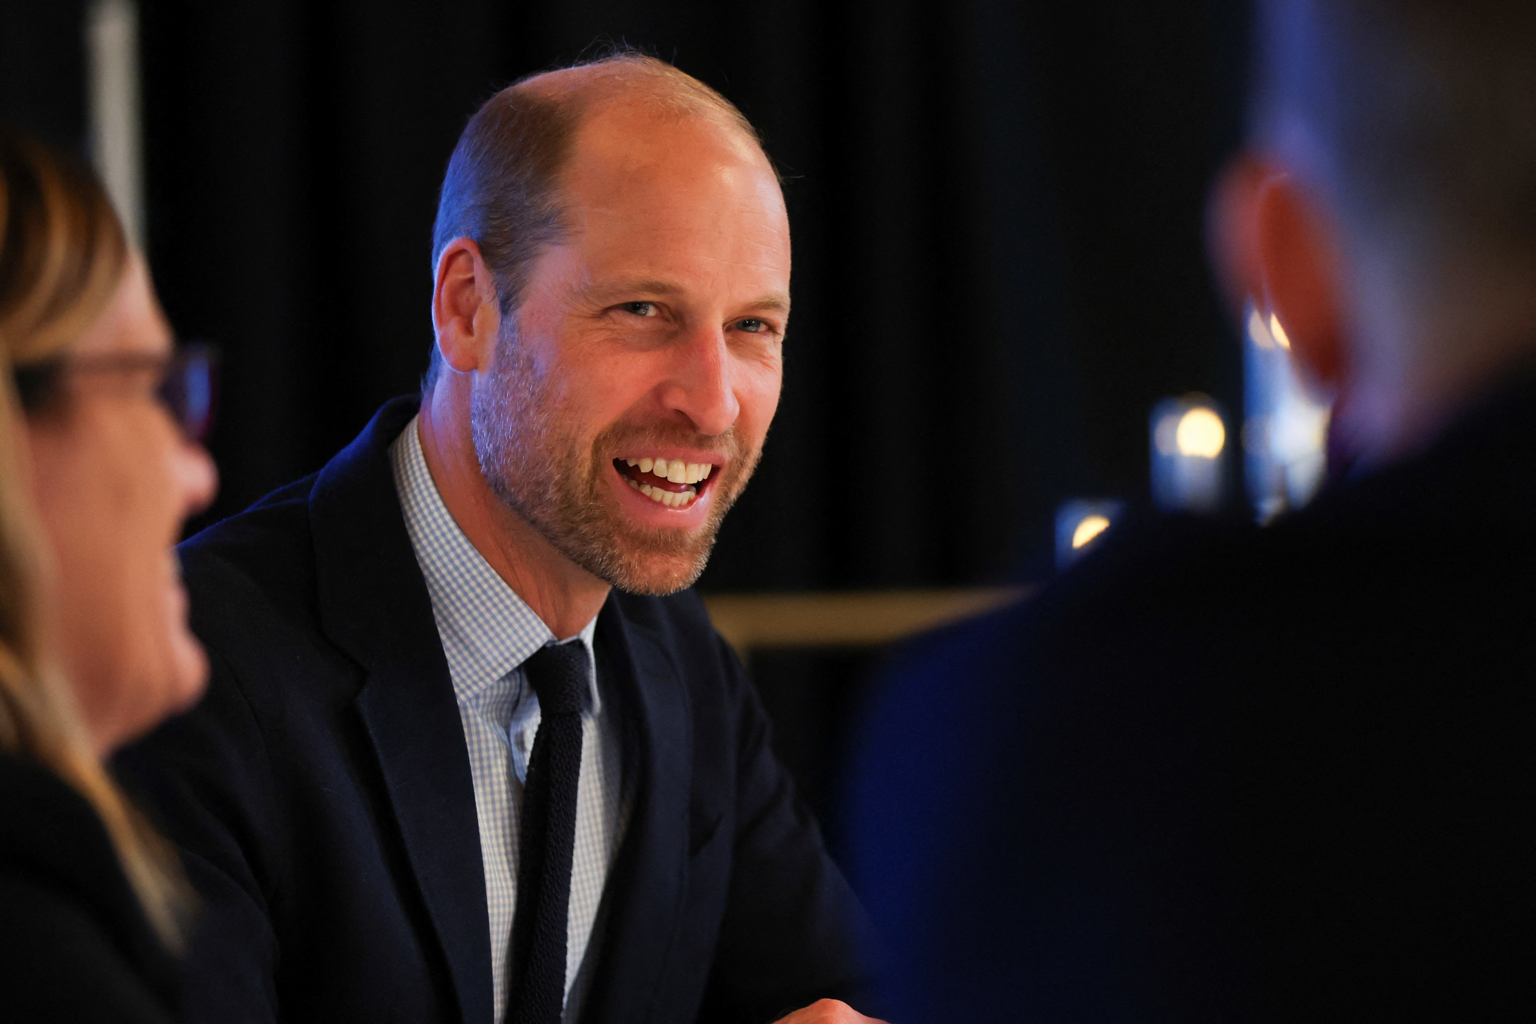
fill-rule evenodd
<path id="1" fill-rule="evenodd" d="M 556 551 L 492 491 L 475 456 L 468 381 L 458 376 L 453 370 L 442 372 L 422 398 L 416 419 L 432 481 L 481 557 L 556 639 L 573 637 L 602 609 L 611 588 Z"/>

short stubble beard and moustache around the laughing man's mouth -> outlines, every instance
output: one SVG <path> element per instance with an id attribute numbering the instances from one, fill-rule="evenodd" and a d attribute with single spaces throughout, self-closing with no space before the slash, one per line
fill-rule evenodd
<path id="1" fill-rule="evenodd" d="M 505 321 L 487 387 L 475 388 L 470 402 L 475 457 L 492 491 L 556 551 L 622 591 L 664 596 L 691 586 L 762 450 L 742 451 L 734 428 L 708 436 L 674 422 L 621 421 L 584 451 L 558 382 L 539 378 L 515 324 Z M 631 522 L 604 482 L 621 451 L 662 445 L 717 453 L 725 467 L 710 488 L 708 517 L 693 531 Z"/>

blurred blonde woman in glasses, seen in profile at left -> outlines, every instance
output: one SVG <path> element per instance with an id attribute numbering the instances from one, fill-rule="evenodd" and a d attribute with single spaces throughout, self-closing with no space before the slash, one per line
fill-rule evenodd
<path id="1" fill-rule="evenodd" d="M 212 462 L 100 186 L 0 127 L 0 1018 L 180 1019 L 175 854 L 101 758 L 197 700 L 174 543 Z"/>

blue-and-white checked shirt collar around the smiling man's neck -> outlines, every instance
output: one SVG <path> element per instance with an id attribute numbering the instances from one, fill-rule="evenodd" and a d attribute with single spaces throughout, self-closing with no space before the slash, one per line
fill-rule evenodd
<path id="1" fill-rule="evenodd" d="M 453 692 L 461 700 L 482 700 L 496 682 L 556 637 L 453 520 L 427 468 L 416 418 L 390 445 L 390 464 L 406 533 L 432 597 Z M 596 625 L 593 619 L 571 637 L 587 648 L 591 714 L 602 708 L 593 652 Z"/>

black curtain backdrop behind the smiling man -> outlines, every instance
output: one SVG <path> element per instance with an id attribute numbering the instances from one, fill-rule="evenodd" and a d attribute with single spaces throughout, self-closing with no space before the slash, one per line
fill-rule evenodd
<path id="1" fill-rule="evenodd" d="M 0 3 L 0 114 L 75 149 L 81 9 Z M 604 41 L 717 88 L 786 177 L 783 402 L 700 586 L 1038 576 L 1063 499 L 1144 490 L 1157 399 L 1241 407 L 1203 246 L 1238 137 L 1235 0 L 140 9 L 151 264 L 178 332 L 224 352 L 214 514 L 318 468 L 415 388 L 459 129 Z M 859 665 L 754 659 L 823 811 Z"/>

